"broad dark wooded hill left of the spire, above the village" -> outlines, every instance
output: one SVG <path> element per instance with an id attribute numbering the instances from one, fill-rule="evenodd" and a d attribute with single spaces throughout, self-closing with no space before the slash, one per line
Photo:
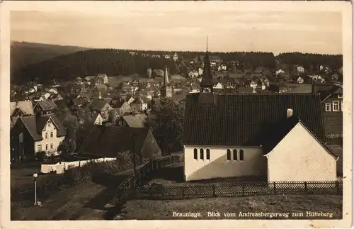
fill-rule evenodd
<path id="1" fill-rule="evenodd" d="M 147 75 L 147 69 L 164 69 L 167 66 L 171 73 L 176 73 L 173 60 L 130 55 L 127 50 L 99 49 L 75 52 L 45 60 L 13 72 L 16 82 L 27 82 L 38 78 L 40 82 L 47 82 L 53 78 L 59 81 L 96 75 L 142 74 Z"/>

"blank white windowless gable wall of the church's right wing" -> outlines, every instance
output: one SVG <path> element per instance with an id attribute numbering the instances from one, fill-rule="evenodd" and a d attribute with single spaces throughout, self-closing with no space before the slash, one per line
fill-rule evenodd
<path id="1" fill-rule="evenodd" d="M 327 152 L 302 123 L 266 155 L 268 181 L 334 181 L 336 158 Z"/>

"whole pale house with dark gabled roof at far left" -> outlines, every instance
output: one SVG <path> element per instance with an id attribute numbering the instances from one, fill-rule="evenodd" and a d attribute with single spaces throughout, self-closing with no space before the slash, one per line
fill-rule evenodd
<path id="1" fill-rule="evenodd" d="M 11 128 L 11 159 L 31 160 L 38 152 L 57 155 L 65 134 L 55 114 L 20 117 Z"/>

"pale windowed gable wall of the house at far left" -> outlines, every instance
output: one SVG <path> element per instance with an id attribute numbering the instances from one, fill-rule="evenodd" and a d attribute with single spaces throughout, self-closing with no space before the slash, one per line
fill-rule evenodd
<path id="1" fill-rule="evenodd" d="M 52 138 L 50 137 L 51 132 L 53 133 Z M 46 133 L 47 133 L 47 138 L 45 138 Z M 57 137 L 57 128 L 55 128 L 54 123 L 48 122 L 47 125 L 45 125 L 45 130 L 43 130 L 42 132 L 42 138 L 43 140 L 35 142 L 35 152 L 40 152 L 38 145 L 42 145 L 42 151 L 45 151 L 48 154 L 50 152 L 57 154 L 57 148 L 60 145 L 60 143 L 62 143 L 65 137 L 64 136 Z M 51 144 L 53 145 L 52 148 L 51 148 Z M 45 150 L 45 145 L 48 146 L 47 150 Z"/>

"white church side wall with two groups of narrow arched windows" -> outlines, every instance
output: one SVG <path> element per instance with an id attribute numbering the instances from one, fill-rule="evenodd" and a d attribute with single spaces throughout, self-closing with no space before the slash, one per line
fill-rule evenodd
<path id="1" fill-rule="evenodd" d="M 200 160 L 200 148 L 204 150 L 204 160 Z M 194 148 L 198 149 L 198 160 L 194 159 Z M 210 160 L 206 149 L 210 149 Z M 231 150 L 231 161 L 227 160 L 227 149 Z M 233 160 L 233 150 L 237 150 L 237 161 Z M 239 160 L 239 150 L 244 150 L 244 161 Z M 261 147 L 222 147 L 184 145 L 185 180 L 211 179 L 217 177 L 261 176 L 266 173 L 266 159 Z"/>

